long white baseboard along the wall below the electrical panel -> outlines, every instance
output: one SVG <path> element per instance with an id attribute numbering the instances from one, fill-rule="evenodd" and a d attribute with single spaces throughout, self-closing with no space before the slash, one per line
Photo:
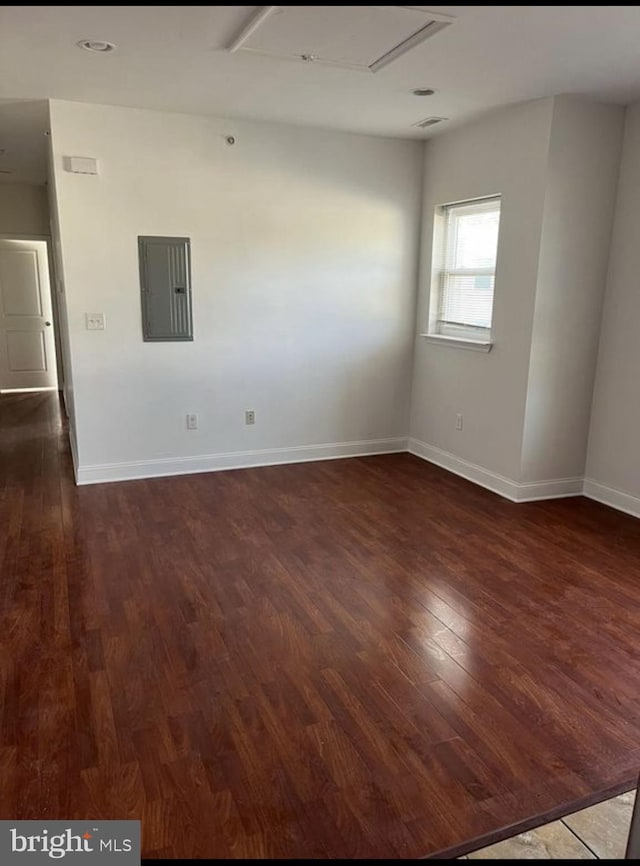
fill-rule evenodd
<path id="1" fill-rule="evenodd" d="M 73 445 L 72 445 L 73 450 Z M 77 484 L 101 484 L 107 481 L 131 481 L 135 478 L 158 478 L 165 475 L 190 475 L 197 472 L 219 472 L 224 469 L 247 469 L 250 466 L 275 466 L 279 463 L 309 463 L 314 460 L 339 460 L 342 457 L 366 457 L 393 454 L 407 450 L 406 437 L 366 439 L 357 442 L 331 442 L 325 445 L 298 445 L 294 448 L 266 448 L 259 451 L 230 451 L 195 457 L 168 457 L 127 463 L 105 463 L 79 466 Z"/>

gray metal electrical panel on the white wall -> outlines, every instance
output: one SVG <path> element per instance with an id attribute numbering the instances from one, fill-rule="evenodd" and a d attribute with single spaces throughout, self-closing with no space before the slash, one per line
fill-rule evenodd
<path id="1" fill-rule="evenodd" d="M 145 342 L 193 340 L 189 238 L 139 237 Z"/>

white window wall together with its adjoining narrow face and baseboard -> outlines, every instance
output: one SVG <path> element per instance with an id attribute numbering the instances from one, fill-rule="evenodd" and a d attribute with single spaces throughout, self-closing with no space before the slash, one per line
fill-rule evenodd
<path id="1" fill-rule="evenodd" d="M 582 490 L 623 122 L 560 96 L 427 145 L 411 450 L 514 499 Z M 491 193 L 493 350 L 436 345 L 421 335 L 434 209 Z"/>

